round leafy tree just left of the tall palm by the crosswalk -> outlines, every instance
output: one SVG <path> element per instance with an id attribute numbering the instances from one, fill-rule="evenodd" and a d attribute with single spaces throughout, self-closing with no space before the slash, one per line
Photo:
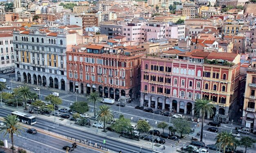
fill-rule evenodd
<path id="1" fill-rule="evenodd" d="M 183 135 L 191 132 L 190 122 L 182 118 L 177 118 L 174 120 L 174 128 L 178 133 L 180 133 L 180 138 L 183 138 Z"/>

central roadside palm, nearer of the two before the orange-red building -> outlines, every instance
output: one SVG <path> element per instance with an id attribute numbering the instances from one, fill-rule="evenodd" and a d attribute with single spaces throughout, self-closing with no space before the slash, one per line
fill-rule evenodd
<path id="1" fill-rule="evenodd" d="M 105 124 L 107 121 L 109 120 L 113 120 L 114 116 L 110 110 L 110 107 L 107 106 L 107 105 L 101 105 L 99 107 L 100 111 L 98 112 L 98 120 L 100 120 L 101 122 L 103 122 L 103 128 L 104 128 L 104 132 L 106 131 L 106 127 L 105 127 Z"/>

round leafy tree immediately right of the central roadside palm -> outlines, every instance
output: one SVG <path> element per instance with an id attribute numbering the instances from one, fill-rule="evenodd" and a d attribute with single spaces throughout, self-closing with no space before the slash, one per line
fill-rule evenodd
<path id="1" fill-rule="evenodd" d="M 131 127 L 131 120 L 121 117 L 118 120 L 116 120 L 112 127 L 113 129 L 115 129 L 117 133 L 122 133 L 127 129 L 127 127 Z"/>

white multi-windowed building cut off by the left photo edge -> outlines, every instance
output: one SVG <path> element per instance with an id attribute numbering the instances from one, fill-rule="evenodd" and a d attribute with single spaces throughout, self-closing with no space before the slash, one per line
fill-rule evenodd
<path id="1" fill-rule="evenodd" d="M 14 53 L 13 53 L 13 35 L 12 34 L 0 33 L 0 48 L 1 48 L 0 69 L 13 67 Z"/>

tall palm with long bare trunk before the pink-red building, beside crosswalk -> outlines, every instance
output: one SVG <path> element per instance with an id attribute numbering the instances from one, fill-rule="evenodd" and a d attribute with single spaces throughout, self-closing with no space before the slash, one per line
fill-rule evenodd
<path id="1" fill-rule="evenodd" d="M 203 141 L 203 125 L 205 121 L 205 114 L 207 114 L 207 116 L 211 116 L 214 113 L 212 107 L 214 107 L 214 105 L 210 104 L 210 100 L 207 100 L 206 98 L 196 100 L 194 110 L 196 114 L 199 114 L 199 116 L 202 118 L 200 141 Z"/>

